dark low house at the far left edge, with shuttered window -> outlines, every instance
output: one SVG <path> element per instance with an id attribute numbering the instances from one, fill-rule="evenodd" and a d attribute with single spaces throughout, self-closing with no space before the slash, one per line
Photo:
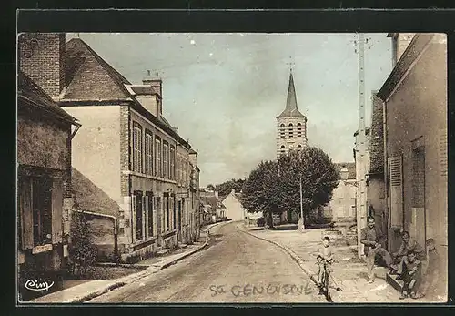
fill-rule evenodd
<path id="1" fill-rule="evenodd" d="M 20 44 L 27 38 L 21 37 Z M 21 65 L 22 66 L 22 65 Z M 36 294 L 26 280 L 58 280 L 68 257 L 71 144 L 76 118 L 22 71 L 17 94 L 17 216 L 21 300 Z"/>

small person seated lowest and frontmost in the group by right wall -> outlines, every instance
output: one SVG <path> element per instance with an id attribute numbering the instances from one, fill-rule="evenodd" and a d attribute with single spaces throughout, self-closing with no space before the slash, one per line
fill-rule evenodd
<path id="1" fill-rule="evenodd" d="M 404 280 L 403 291 L 399 299 L 406 299 L 410 293 L 412 299 L 418 299 L 417 291 L 419 290 L 421 281 L 421 267 L 422 263 L 416 258 L 414 250 L 408 250 L 403 262 L 403 272 L 401 274 Z"/>

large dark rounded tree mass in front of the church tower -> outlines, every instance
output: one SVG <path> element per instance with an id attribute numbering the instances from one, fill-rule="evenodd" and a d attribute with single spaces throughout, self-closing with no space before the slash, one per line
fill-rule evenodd
<path id="1" fill-rule="evenodd" d="M 277 161 L 261 161 L 243 185 L 242 203 L 248 212 L 262 210 L 272 219 L 275 212 L 300 214 L 300 179 L 304 217 L 311 209 L 329 203 L 338 186 L 338 170 L 319 148 L 290 151 Z M 270 222 L 273 226 L 273 221 Z"/>

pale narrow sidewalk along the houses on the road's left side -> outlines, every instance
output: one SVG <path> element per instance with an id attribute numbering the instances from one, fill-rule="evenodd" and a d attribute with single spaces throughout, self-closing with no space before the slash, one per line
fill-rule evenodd
<path id="1" fill-rule="evenodd" d="M 187 245 L 184 249 L 172 251 L 168 255 L 149 258 L 130 265 L 144 268 L 144 270 L 137 273 L 130 274 L 116 280 L 89 280 L 66 290 L 56 291 L 35 300 L 25 301 L 23 303 L 78 303 L 89 301 L 106 293 L 107 291 L 112 291 L 128 283 L 147 277 L 150 274 L 156 273 L 158 270 L 166 269 L 177 261 L 187 258 L 198 250 L 202 250 L 207 246 L 210 239 L 209 234 L 207 233 L 208 230 L 220 224 L 223 223 L 208 225 L 201 229 L 200 237 L 193 245 Z M 121 266 L 126 267 L 128 265 L 123 264 Z"/>

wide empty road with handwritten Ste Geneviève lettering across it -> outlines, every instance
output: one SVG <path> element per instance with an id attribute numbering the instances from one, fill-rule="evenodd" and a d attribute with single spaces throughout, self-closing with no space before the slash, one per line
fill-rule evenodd
<path id="1" fill-rule="evenodd" d="M 86 303 L 324 301 L 284 250 L 237 225 L 213 228 L 205 250 Z"/>

